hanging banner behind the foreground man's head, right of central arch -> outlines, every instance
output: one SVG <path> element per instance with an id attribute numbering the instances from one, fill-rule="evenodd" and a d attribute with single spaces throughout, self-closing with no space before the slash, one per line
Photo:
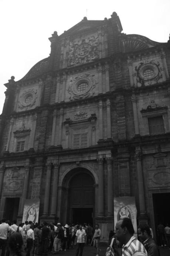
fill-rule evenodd
<path id="1" fill-rule="evenodd" d="M 132 220 L 133 228 L 137 234 L 135 197 L 114 197 L 114 223 L 123 218 Z"/>

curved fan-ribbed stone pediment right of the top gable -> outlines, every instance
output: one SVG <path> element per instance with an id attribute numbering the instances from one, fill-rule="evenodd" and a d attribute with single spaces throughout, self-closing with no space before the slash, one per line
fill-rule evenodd
<path id="1" fill-rule="evenodd" d="M 137 50 L 147 49 L 160 44 L 159 42 L 155 42 L 141 35 L 132 34 L 132 35 L 123 36 L 122 34 L 122 37 L 123 37 L 121 39 L 122 52 L 134 52 Z"/>

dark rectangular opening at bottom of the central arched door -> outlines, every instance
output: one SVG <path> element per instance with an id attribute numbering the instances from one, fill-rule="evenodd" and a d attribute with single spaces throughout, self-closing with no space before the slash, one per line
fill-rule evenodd
<path id="1" fill-rule="evenodd" d="M 72 223 L 93 223 L 93 208 L 73 208 Z"/>

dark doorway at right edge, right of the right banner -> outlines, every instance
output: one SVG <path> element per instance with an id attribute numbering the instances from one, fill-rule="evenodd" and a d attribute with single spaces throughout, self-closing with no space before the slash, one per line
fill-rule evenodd
<path id="1" fill-rule="evenodd" d="M 166 223 L 170 224 L 170 193 L 153 194 L 153 210 L 155 230 L 157 225 L 162 222 L 164 226 Z M 157 233 L 157 232 L 156 232 Z M 157 242 L 159 243 L 159 237 L 156 234 Z"/>

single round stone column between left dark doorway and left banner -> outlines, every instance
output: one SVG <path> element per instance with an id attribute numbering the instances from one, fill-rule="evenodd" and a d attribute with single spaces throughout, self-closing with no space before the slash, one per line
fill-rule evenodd
<path id="1" fill-rule="evenodd" d="M 23 195 L 21 197 L 21 208 L 20 208 L 20 215 L 23 215 L 24 211 L 24 203 L 27 199 L 28 195 L 28 185 L 29 185 L 29 176 L 30 176 L 30 167 L 31 165 L 29 163 L 26 163 L 25 167 L 25 175 L 24 175 L 24 184 L 23 184 Z"/>

